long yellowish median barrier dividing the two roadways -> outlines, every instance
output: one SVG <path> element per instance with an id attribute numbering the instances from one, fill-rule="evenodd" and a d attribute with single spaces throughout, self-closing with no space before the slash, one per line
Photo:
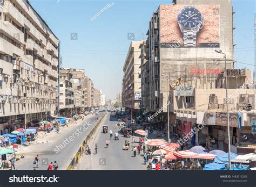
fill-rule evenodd
<path id="1" fill-rule="evenodd" d="M 87 142 L 89 142 L 91 140 L 91 138 L 92 138 L 93 134 L 95 133 L 97 127 L 100 125 L 100 123 L 102 123 L 102 120 L 105 117 L 105 115 L 106 115 L 106 112 L 103 114 L 102 118 L 100 118 L 100 120 L 97 122 L 97 124 L 92 128 L 90 133 L 86 136 L 85 140 L 82 143 L 82 146 L 80 146 L 78 148 L 77 153 L 75 154 L 75 156 L 71 160 L 69 166 L 66 167 L 66 170 L 74 170 L 75 169 L 75 166 L 79 163 L 80 159 L 82 159 L 82 157 L 83 157 L 85 146 L 86 146 Z"/>

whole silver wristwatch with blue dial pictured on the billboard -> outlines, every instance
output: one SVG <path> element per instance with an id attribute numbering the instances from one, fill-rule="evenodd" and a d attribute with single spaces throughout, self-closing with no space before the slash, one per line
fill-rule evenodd
<path id="1" fill-rule="evenodd" d="M 185 6 L 178 14 L 178 23 L 183 33 L 184 47 L 196 47 L 197 33 L 204 23 L 201 12 L 193 6 Z"/>

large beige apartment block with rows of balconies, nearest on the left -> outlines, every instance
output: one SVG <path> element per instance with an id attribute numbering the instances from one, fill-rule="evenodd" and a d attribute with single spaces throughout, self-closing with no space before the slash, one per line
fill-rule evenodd
<path id="1" fill-rule="evenodd" d="M 56 110 L 56 35 L 28 1 L 0 1 L 0 129 L 26 127 Z"/>

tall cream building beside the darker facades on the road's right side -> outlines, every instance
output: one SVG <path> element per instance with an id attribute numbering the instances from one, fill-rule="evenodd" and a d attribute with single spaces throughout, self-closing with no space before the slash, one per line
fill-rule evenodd
<path id="1" fill-rule="evenodd" d="M 123 106 L 130 111 L 133 109 L 134 113 L 137 113 L 140 108 L 141 102 L 141 90 L 140 90 L 140 44 L 143 44 L 144 40 L 132 41 L 129 51 L 126 56 L 123 71 L 123 83 L 122 83 L 122 100 Z"/>

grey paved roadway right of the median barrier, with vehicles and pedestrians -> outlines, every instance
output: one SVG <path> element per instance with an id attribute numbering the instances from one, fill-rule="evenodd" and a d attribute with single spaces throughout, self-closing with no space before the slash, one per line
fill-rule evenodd
<path id="1" fill-rule="evenodd" d="M 102 125 L 108 125 L 109 130 L 119 131 L 116 129 L 117 119 L 113 115 L 107 113 Z M 84 155 L 81 163 L 78 165 L 78 170 L 146 170 L 144 165 L 143 155 L 132 156 L 131 147 L 129 150 L 122 150 L 125 139 L 131 141 L 131 138 L 124 138 L 120 134 L 119 140 L 111 140 L 110 145 L 106 148 L 106 139 L 110 139 L 109 132 L 102 133 L 102 125 L 96 131 L 93 140 L 90 142 L 92 155 Z M 138 140 L 138 137 L 137 137 Z M 95 143 L 98 145 L 98 154 L 95 155 Z"/>

